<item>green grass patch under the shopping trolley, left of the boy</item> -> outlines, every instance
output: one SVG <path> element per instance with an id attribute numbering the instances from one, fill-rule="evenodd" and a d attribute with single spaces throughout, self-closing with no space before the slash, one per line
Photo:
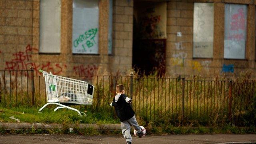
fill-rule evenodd
<path id="1" fill-rule="evenodd" d="M 55 107 L 48 106 L 41 113 L 38 113 L 39 107 L 0 107 L 0 122 L 16 122 L 10 119 L 10 116 L 18 118 L 20 122 L 39 122 L 39 123 L 90 123 L 90 124 L 109 124 L 119 123 L 114 113 L 104 112 L 86 112 L 87 116 L 79 116 L 73 110 L 60 109 L 54 112 Z M 84 110 L 83 110 L 84 111 Z"/>

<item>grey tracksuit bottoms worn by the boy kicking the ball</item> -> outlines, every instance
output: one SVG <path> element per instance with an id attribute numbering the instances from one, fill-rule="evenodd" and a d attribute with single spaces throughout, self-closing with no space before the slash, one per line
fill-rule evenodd
<path id="1" fill-rule="evenodd" d="M 123 122 L 121 122 L 122 133 L 124 138 L 126 139 L 126 142 L 132 142 L 131 125 L 136 130 L 137 134 L 141 131 L 135 115 L 129 120 L 124 120 Z"/>

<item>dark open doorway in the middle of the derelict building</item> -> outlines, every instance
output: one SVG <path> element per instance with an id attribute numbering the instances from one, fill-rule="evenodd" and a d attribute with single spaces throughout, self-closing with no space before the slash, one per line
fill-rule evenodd
<path id="1" fill-rule="evenodd" d="M 166 2 L 134 1 L 132 55 L 140 75 L 165 74 Z"/>

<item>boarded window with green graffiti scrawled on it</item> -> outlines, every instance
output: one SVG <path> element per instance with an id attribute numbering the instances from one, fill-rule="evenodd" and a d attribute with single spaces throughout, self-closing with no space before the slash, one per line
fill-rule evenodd
<path id="1" fill-rule="evenodd" d="M 98 3 L 98 0 L 73 0 L 74 54 L 98 54 Z"/>

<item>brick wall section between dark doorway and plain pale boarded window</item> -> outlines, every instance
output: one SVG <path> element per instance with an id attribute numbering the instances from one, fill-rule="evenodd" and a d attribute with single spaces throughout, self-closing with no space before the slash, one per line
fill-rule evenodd
<path id="1" fill-rule="evenodd" d="M 166 71 L 170 75 L 192 71 L 188 61 L 192 60 L 193 7 L 193 2 L 167 3 Z"/>

